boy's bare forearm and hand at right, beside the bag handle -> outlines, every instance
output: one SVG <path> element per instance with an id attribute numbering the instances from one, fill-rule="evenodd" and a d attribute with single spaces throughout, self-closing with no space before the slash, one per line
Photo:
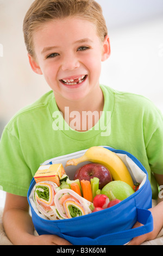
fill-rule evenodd
<path id="1" fill-rule="evenodd" d="M 128 245 L 140 245 L 141 243 L 149 240 L 153 240 L 158 236 L 160 230 L 163 227 L 163 202 L 160 202 L 158 205 L 156 205 L 154 208 L 149 209 L 149 211 L 152 212 L 153 216 L 153 231 L 150 233 L 147 233 L 145 235 L 136 236 L 134 237 Z M 139 222 L 136 222 L 133 228 L 140 227 L 142 224 Z"/>

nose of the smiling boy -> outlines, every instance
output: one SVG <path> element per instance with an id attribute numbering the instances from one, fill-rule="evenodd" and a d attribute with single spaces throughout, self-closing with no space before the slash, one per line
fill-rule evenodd
<path id="1" fill-rule="evenodd" d="M 79 68 L 79 66 L 79 60 L 76 56 L 74 56 L 74 54 L 67 54 L 67 56 L 65 56 L 65 58 L 62 61 L 62 70 L 64 71 L 77 69 Z"/>

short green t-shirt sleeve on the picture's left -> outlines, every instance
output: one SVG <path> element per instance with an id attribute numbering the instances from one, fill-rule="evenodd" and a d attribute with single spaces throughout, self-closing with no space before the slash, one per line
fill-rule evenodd
<path id="1" fill-rule="evenodd" d="M 27 197 L 32 173 L 24 160 L 18 136 L 4 129 L 0 141 L 0 185 L 2 190 Z"/>

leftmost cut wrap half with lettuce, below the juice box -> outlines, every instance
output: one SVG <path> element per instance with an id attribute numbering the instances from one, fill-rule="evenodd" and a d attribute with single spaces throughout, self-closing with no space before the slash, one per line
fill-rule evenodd
<path id="1" fill-rule="evenodd" d="M 34 202 L 36 208 L 49 220 L 57 220 L 57 215 L 52 210 L 54 196 L 57 193 L 57 184 L 52 181 L 41 181 L 34 186 Z"/>

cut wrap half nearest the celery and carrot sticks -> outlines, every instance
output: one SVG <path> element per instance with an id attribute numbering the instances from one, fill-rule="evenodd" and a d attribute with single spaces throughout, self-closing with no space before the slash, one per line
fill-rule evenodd
<path id="1" fill-rule="evenodd" d="M 52 205 L 51 209 L 62 220 L 90 214 L 92 212 L 91 205 L 91 202 L 73 190 L 64 188 L 55 194 L 54 206 Z"/>

